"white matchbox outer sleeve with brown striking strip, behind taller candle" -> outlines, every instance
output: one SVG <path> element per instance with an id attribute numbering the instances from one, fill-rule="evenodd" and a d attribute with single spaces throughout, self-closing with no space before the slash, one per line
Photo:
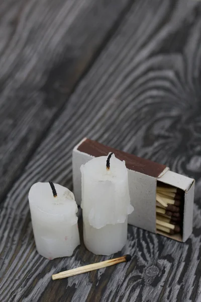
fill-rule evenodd
<path id="1" fill-rule="evenodd" d="M 121 161 L 125 160 L 128 169 L 131 204 L 134 206 L 128 222 L 156 233 L 156 185 L 157 178 L 168 170 L 164 165 L 85 138 L 75 146 L 72 154 L 73 188 L 76 202 L 78 204 L 81 202 L 81 165 L 94 157 L 107 156 L 109 152 L 114 152 Z"/>

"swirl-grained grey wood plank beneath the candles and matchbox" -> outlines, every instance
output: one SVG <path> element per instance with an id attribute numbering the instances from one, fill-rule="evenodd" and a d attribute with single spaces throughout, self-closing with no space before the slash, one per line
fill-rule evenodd
<path id="1" fill-rule="evenodd" d="M 134 2 L 2 204 L 1 301 L 201 300 L 200 16 L 199 2 Z M 131 254 L 130 263 L 52 281 L 58 271 L 109 259 L 81 244 L 72 257 L 49 261 L 34 246 L 29 188 L 51 179 L 71 189 L 71 151 L 83 136 L 194 177 L 190 239 L 129 225 L 115 256 Z"/>

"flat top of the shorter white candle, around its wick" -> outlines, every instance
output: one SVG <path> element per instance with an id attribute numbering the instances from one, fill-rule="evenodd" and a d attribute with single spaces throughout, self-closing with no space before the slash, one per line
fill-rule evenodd
<path id="1" fill-rule="evenodd" d="M 29 191 L 30 204 L 47 214 L 73 216 L 77 212 L 74 194 L 59 184 L 54 186 L 57 196 L 53 195 L 48 182 L 34 184 Z"/>

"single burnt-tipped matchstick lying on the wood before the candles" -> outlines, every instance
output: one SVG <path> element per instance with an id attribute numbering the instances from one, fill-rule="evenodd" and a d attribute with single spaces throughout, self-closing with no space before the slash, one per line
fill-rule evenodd
<path id="1" fill-rule="evenodd" d="M 86 273 L 86 272 L 90 272 L 90 271 L 93 271 L 93 270 L 96 270 L 99 268 L 115 265 L 115 264 L 118 264 L 121 262 L 127 262 L 130 260 L 131 260 L 131 255 L 125 255 L 125 256 L 122 256 L 119 258 L 115 258 L 115 259 L 110 259 L 110 260 L 106 260 L 106 261 L 102 261 L 102 262 L 98 262 L 98 263 L 80 266 L 77 268 L 73 268 L 73 269 L 70 269 L 67 271 L 60 272 L 58 274 L 54 274 L 54 275 L 52 275 L 52 280 L 63 279 L 63 278 L 79 275 L 82 273 Z"/>

